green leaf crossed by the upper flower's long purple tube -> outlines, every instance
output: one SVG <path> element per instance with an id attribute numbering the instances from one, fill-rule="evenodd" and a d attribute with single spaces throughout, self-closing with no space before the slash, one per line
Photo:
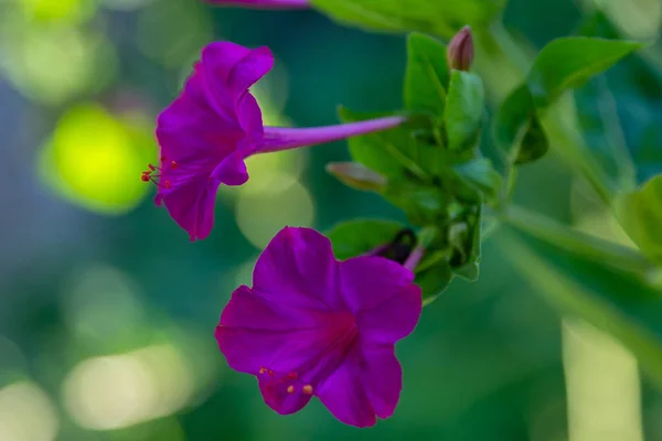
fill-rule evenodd
<path id="1" fill-rule="evenodd" d="M 359 114 L 345 107 L 338 110 L 343 122 L 362 121 L 392 114 Z M 412 128 L 403 125 L 398 128 L 375 133 L 353 137 L 348 140 L 352 159 L 381 173 L 386 178 L 402 176 L 407 171 L 419 176 L 426 173 L 416 161 L 416 140 Z"/>

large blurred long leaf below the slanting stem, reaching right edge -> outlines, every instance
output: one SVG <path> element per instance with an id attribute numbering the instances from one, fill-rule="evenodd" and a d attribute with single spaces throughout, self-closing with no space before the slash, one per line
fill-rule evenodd
<path id="1" fill-rule="evenodd" d="M 662 387 L 662 292 L 641 278 L 537 240 L 495 238 L 532 292 L 626 345 Z"/>

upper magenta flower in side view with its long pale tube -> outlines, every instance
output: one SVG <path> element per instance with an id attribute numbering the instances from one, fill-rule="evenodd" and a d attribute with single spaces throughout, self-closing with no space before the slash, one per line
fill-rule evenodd
<path id="1" fill-rule="evenodd" d="M 263 127 L 248 88 L 273 65 L 267 47 L 212 43 L 202 51 L 181 95 L 158 118 L 160 165 L 150 164 L 142 181 L 158 185 L 157 204 L 166 205 L 191 240 L 210 234 L 218 185 L 248 180 L 247 157 L 385 130 L 404 121 L 387 117 L 321 128 Z"/>

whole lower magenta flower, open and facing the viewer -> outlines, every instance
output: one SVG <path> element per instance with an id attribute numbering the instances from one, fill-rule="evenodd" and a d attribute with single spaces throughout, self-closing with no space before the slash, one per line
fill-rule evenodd
<path id="1" fill-rule="evenodd" d="M 313 396 L 340 421 L 369 427 L 393 415 L 403 373 L 395 343 L 421 310 L 414 273 L 383 257 L 338 261 L 310 228 L 286 227 L 264 250 L 253 288 L 237 288 L 216 340 L 228 365 L 255 375 L 281 415 Z"/>

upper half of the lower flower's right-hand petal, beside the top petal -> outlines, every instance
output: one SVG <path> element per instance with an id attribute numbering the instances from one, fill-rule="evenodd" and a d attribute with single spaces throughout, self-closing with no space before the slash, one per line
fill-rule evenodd
<path id="1" fill-rule="evenodd" d="M 412 271 L 383 257 L 361 256 L 340 262 L 340 292 L 355 315 L 377 308 L 413 281 Z"/>

